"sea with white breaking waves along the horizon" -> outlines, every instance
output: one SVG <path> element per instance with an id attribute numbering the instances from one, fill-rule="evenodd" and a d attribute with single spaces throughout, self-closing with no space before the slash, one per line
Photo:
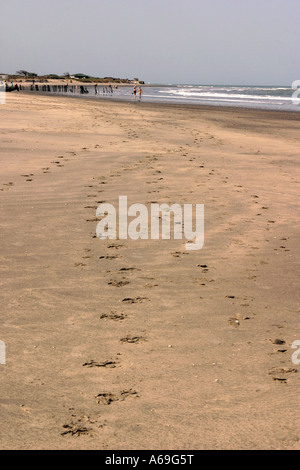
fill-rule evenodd
<path id="1" fill-rule="evenodd" d="M 228 85 L 141 85 L 142 101 L 149 103 L 173 103 L 184 105 L 210 105 L 242 107 L 282 111 L 300 111 L 300 81 L 298 88 L 291 86 L 228 86 Z M 82 95 L 91 99 L 133 101 L 133 87 L 118 86 L 109 92 L 107 87 L 86 86 L 88 93 Z M 68 91 L 70 93 L 70 90 Z M 138 101 L 138 95 L 136 100 Z"/>

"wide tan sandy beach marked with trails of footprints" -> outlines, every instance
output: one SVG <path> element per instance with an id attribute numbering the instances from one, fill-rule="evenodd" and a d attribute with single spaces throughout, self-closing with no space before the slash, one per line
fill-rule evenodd
<path id="1" fill-rule="evenodd" d="M 1 449 L 300 449 L 299 113 L 8 94 Z M 205 246 L 96 209 L 204 204 Z"/>

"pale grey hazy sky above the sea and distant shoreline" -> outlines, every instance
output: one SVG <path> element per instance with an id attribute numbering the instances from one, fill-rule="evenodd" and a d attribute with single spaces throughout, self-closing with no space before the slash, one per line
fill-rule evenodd
<path id="1" fill-rule="evenodd" d="M 0 73 L 300 80 L 299 0 L 0 0 Z"/>

